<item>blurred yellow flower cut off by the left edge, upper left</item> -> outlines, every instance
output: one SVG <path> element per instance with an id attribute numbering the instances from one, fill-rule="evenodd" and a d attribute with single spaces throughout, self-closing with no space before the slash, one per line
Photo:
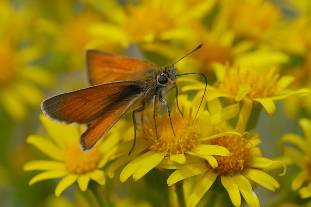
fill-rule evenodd
<path id="1" fill-rule="evenodd" d="M 40 50 L 25 42 L 30 17 L 26 11 L 17 13 L 9 1 L 0 1 L 0 105 L 17 121 L 26 118 L 27 106 L 40 105 L 43 94 L 38 86 L 52 82 L 50 74 L 31 64 Z"/>

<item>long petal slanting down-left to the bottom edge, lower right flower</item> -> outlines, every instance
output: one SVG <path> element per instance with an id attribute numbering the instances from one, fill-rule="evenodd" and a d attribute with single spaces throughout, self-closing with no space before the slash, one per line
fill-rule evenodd
<path id="1" fill-rule="evenodd" d="M 203 195 L 208 191 L 210 186 L 217 178 L 217 174 L 213 171 L 208 171 L 200 179 L 197 180 L 187 200 L 187 207 L 195 207 Z"/>

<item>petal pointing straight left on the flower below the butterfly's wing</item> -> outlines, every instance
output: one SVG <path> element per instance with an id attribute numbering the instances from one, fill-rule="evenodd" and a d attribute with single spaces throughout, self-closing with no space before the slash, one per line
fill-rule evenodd
<path id="1" fill-rule="evenodd" d="M 33 160 L 24 164 L 25 171 L 31 170 L 65 170 L 66 166 L 63 162 L 50 160 Z"/>

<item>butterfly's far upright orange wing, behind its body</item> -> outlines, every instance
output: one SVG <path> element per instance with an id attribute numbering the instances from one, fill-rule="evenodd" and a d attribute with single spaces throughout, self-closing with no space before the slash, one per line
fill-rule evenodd
<path id="1" fill-rule="evenodd" d="M 86 65 L 91 85 L 119 80 L 136 80 L 136 75 L 146 69 L 155 68 L 153 64 L 142 60 L 99 50 L 86 51 Z"/>

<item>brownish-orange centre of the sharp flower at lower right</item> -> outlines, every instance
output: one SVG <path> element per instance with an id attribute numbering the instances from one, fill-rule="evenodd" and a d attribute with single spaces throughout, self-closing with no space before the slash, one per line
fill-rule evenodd
<path id="1" fill-rule="evenodd" d="M 249 167 L 252 151 L 251 143 L 244 138 L 225 136 L 212 140 L 212 144 L 224 146 L 231 152 L 229 157 L 214 156 L 218 166 L 213 170 L 217 174 L 233 175 L 235 172 L 241 173 L 243 169 Z"/>

